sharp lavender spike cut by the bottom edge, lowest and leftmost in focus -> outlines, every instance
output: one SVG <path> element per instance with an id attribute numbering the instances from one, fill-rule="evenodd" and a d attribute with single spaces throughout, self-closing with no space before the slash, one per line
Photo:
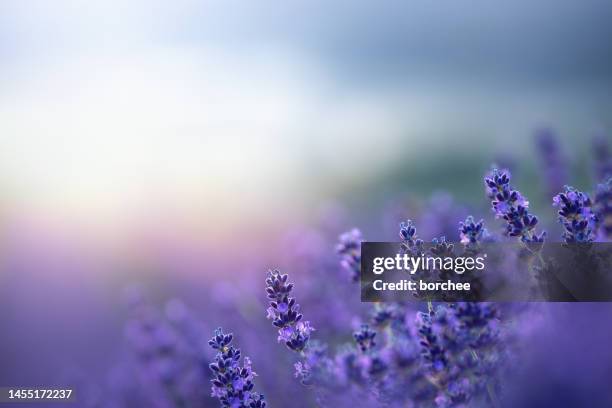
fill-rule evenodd
<path id="1" fill-rule="evenodd" d="M 223 407 L 265 408 L 264 396 L 253 391 L 253 377 L 256 374 L 251 368 L 251 360 L 245 357 L 240 366 L 240 350 L 230 345 L 232 339 L 231 333 L 225 334 L 218 328 L 208 341 L 217 350 L 215 361 L 209 365 L 215 376 L 212 396 L 218 398 Z"/>

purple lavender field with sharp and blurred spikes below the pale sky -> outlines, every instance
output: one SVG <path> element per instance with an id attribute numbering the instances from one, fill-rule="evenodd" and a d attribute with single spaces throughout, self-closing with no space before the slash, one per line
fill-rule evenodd
<path id="1" fill-rule="evenodd" d="M 554 133 L 536 134 L 537 183 L 558 191 L 548 206 L 548 193 L 534 197 L 537 215 L 495 169 L 473 181 L 473 207 L 409 189 L 371 216 L 326 205 L 263 246 L 245 226 L 235 256 L 149 231 L 138 262 L 108 267 L 172 276 L 129 284 L 67 279 L 104 263 L 9 224 L 2 382 L 71 385 L 80 406 L 608 406 L 609 303 L 362 303 L 357 283 L 369 236 L 407 251 L 432 239 L 447 250 L 445 239 L 608 241 L 612 156 L 605 139 L 593 143 L 591 186 L 579 191 L 562 187 L 569 158 Z"/>

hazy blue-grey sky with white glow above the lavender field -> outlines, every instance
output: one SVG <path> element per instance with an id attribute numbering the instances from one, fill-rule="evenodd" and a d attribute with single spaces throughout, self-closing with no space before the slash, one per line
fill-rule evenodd
<path id="1" fill-rule="evenodd" d="M 611 16 L 604 1 L 5 1 L 3 201 L 223 228 L 307 212 L 422 151 L 486 153 L 541 124 L 576 140 L 611 125 Z"/>

